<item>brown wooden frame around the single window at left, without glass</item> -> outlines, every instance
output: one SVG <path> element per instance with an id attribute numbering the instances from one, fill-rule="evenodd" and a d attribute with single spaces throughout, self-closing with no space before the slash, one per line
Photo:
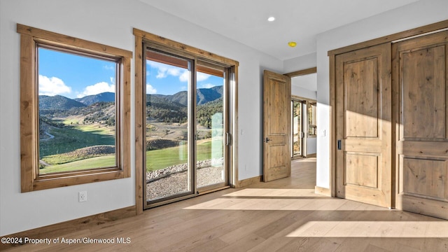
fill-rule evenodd
<path id="1" fill-rule="evenodd" d="M 130 169 L 130 69 L 132 52 L 80 38 L 17 24 L 20 34 L 20 169 L 22 193 L 83 183 L 123 179 Z M 111 168 L 38 174 L 38 83 L 36 47 L 38 43 L 71 50 L 83 55 L 117 59 L 116 155 Z"/>

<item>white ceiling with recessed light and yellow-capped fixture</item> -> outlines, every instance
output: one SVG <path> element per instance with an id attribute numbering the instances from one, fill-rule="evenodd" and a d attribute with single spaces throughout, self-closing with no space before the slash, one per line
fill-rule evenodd
<path id="1" fill-rule="evenodd" d="M 284 60 L 316 52 L 316 34 L 418 0 L 140 1 Z"/>

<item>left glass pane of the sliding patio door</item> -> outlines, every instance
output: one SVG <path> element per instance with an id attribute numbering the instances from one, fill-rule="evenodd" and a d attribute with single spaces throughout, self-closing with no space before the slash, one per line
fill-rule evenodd
<path id="1" fill-rule="evenodd" d="M 146 51 L 146 200 L 193 192 L 188 165 L 191 62 Z"/>

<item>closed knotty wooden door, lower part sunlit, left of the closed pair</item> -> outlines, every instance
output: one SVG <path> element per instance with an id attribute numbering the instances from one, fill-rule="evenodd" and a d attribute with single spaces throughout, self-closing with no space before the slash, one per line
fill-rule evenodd
<path id="1" fill-rule="evenodd" d="M 337 197 L 391 207 L 391 45 L 335 57 Z"/>

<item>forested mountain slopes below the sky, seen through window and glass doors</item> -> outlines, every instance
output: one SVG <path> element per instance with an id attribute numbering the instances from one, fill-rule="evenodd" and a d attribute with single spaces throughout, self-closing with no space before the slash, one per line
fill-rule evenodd
<path id="1" fill-rule="evenodd" d="M 222 111 L 223 86 L 200 88 L 197 90 L 198 123 L 211 126 L 211 115 Z M 188 118 L 188 96 L 186 91 L 172 95 L 146 94 L 146 116 L 161 123 L 186 123 Z M 41 116 L 78 116 L 83 124 L 102 123 L 115 125 L 115 93 L 103 92 L 77 99 L 61 95 L 39 96 Z M 80 116 L 80 117 L 79 117 Z"/>

